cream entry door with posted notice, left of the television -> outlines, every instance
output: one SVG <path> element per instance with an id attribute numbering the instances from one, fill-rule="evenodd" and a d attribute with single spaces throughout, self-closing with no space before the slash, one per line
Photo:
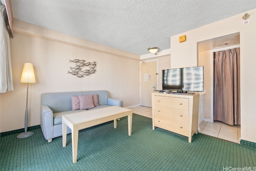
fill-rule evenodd
<path id="1" fill-rule="evenodd" d="M 140 105 L 152 107 L 151 93 L 157 87 L 157 63 L 143 62 L 140 64 Z"/>

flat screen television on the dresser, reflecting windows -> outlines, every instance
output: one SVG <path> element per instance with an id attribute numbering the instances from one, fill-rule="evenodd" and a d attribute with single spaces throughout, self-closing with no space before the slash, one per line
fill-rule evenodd
<path id="1" fill-rule="evenodd" d="M 162 90 L 204 91 L 204 66 L 162 70 Z"/>

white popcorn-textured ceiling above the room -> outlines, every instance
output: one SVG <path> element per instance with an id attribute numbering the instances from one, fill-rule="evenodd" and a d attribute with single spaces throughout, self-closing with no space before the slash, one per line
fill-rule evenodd
<path id="1" fill-rule="evenodd" d="M 138 55 L 256 8 L 256 0 L 11 0 L 13 18 Z M 242 18 L 242 16 L 241 16 Z M 15 36 L 15 35 L 14 35 Z"/>

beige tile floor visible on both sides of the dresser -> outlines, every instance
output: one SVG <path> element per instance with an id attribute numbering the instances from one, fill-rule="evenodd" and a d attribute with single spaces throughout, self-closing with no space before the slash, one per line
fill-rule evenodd
<path id="1" fill-rule="evenodd" d="M 145 106 L 132 107 L 132 113 L 152 118 L 152 108 Z M 200 124 L 200 133 L 210 135 L 212 137 L 225 139 L 234 143 L 240 143 L 241 130 L 240 125 L 227 125 L 225 123 L 214 121 L 203 121 Z"/>

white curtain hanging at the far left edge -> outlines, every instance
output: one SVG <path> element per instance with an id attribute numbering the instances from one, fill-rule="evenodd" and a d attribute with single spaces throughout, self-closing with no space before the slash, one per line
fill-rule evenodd
<path id="1" fill-rule="evenodd" d="M 6 8 L 0 5 L 0 93 L 13 90 L 10 38 L 6 20 Z"/>

